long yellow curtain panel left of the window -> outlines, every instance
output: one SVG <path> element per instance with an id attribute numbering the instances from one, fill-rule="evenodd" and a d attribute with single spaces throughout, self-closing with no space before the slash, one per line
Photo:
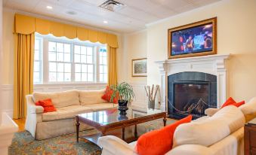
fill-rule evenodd
<path id="1" fill-rule="evenodd" d="M 33 92 L 35 34 L 14 37 L 14 119 L 19 119 L 26 117 L 26 95 Z"/>

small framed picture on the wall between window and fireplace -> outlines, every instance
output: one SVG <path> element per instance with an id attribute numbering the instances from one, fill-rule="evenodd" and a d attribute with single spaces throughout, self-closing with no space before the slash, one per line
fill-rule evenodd
<path id="1" fill-rule="evenodd" d="M 132 59 L 131 64 L 133 77 L 147 77 L 147 58 Z"/>

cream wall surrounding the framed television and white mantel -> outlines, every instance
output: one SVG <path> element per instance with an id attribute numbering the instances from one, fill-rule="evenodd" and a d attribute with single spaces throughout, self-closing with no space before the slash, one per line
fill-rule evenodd
<path id="1" fill-rule="evenodd" d="M 147 26 L 148 84 L 160 84 L 155 61 L 168 58 L 167 31 L 176 26 L 217 17 L 217 53 L 231 53 L 229 96 L 256 96 L 256 1 L 224 0 Z"/>

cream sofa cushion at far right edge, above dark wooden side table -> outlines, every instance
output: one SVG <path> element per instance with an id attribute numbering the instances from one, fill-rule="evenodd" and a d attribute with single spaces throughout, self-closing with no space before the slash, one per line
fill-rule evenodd
<path id="1" fill-rule="evenodd" d="M 252 98 L 245 105 L 239 107 L 245 115 L 245 121 L 248 122 L 256 117 L 256 97 Z"/>

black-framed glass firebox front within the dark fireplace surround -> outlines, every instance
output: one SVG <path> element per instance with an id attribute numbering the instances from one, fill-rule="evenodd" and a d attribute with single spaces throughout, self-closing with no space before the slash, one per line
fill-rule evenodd
<path id="1" fill-rule="evenodd" d="M 174 113 L 202 117 L 210 100 L 210 84 L 204 81 L 179 81 L 174 83 Z"/>

